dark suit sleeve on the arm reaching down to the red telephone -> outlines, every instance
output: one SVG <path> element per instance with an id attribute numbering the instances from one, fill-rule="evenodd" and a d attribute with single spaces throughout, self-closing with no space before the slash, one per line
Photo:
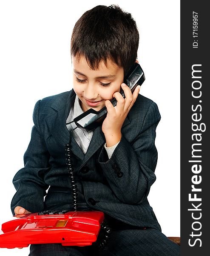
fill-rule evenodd
<path id="1" fill-rule="evenodd" d="M 49 153 L 40 131 L 38 101 L 34 107 L 34 126 L 31 132 L 31 140 L 24 154 L 24 168 L 20 169 L 13 178 L 13 184 L 17 192 L 11 201 L 11 211 L 21 206 L 29 212 L 40 212 L 44 208 L 44 196 L 48 185 L 44 182 L 44 174 L 50 168 Z"/>

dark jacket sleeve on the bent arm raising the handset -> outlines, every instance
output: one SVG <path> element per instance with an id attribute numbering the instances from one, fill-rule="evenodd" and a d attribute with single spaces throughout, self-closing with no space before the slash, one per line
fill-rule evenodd
<path id="1" fill-rule="evenodd" d="M 131 143 L 122 134 L 110 159 L 104 147 L 99 164 L 115 196 L 125 204 L 139 204 L 147 198 L 156 180 L 156 126 L 160 113 L 152 102 L 145 115 L 141 131 Z M 107 160 L 108 159 L 108 160 Z"/>

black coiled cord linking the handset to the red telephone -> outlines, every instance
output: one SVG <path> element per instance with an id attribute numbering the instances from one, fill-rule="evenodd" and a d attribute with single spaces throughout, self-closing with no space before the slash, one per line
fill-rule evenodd
<path id="1" fill-rule="evenodd" d="M 68 169 L 68 175 L 69 175 L 69 180 L 71 183 L 71 190 L 72 190 L 72 200 L 73 200 L 73 208 L 74 211 L 77 211 L 78 207 L 78 189 L 77 189 L 77 184 L 75 183 L 74 180 L 74 168 L 72 166 L 72 151 L 71 151 L 71 133 L 74 131 L 77 127 L 71 130 L 70 132 L 70 138 L 69 138 L 69 143 L 65 145 L 65 156 L 66 156 L 66 165 Z M 108 242 L 110 233 L 111 233 L 111 227 L 108 226 L 107 221 L 103 221 L 101 224 L 101 230 L 104 231 L 104 234 L 101 238 L 98 238 L 96 242 L 94 242 L 94 246 L 98 248 L 98 250 L 102 250 L 103 247 Z M 101 233 L 99 233 L 100 235 Z M 99 240 L 99 241 L 98 241 Z"/>

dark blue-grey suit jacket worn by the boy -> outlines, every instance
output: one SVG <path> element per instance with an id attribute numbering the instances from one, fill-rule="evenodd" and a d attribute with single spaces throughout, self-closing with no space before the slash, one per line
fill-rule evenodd
<path id="1" fill-rule="evenodd" d="M 75 96 L 72 89 L 36 103 L 31 141 L 24 154 L 25 166 L 13 179 L 17 190 L 11 201 L 13 215 L 16 206 L 30 212 L 71 208 L 65 160 L 69 132 L 65 122 Z M 110 159 L 104 148 L 101 126 L 94 130 L 85 155 L 72 138 L 80 201 L 128 224 L 161 230 L 147 200 L 150 186 L 156 180 L 155 137 L 160 118 L 156 103 L 139 94 L 123 123 L 122 138 Z"/>

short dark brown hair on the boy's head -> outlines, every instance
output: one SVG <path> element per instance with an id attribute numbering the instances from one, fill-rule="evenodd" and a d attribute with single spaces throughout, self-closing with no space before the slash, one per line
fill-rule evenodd
<path id="1" fill-rule="evenodd" d="M 71 35 L 71 57 L 84 56 L 92 70 L 107 59 L 123 67 L 124 74 L 136 61 L 139 32 L 130 13 L 118 5 L 96 6 L 77 21 Z"/>

